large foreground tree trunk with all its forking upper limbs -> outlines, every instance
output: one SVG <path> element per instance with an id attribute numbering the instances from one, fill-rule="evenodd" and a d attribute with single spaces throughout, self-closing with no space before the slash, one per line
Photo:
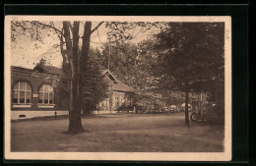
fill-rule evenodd
<path id="1" fill-rule="evenodd" d="M 98 28 L 103 22 L 100 22 Z M 76 135 L 83 133 L 85 130 L 82 126 L 81 108 L 82 108 L 82 86 L 83 73 L 86 73 L 86 65 L 88 63 L 88 54 L 90 48 L 90 39 L 92 30 L 92 22 L 86 22 L 84 27 L 82 51 L 79 53 L 79 26 L 80 22 L 74 22 L 73 27 L 70 22 L 63 22 L 63 31 L 66 44 L 66 51 L 63 48 L 63 36 L 61 34 L 61 53 L 63 56 L 63 65 L 69 69 L 69 86 L 70 86 L 70 115 L 68 134 Z M 70 31 L 73 39 L 71 39 Z"/>

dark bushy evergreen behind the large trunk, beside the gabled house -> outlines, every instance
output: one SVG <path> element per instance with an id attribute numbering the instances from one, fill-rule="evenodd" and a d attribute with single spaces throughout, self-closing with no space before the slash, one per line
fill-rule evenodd
<path id="1" fill-rule="evenodd" d="M 91 48 L 89 51 L 89 60 L 86 65 L 86 71 L 82 72 L 82 107 L 85 113 L 89 113 L 96 108 L 96 104 L 104 100 L 107 97 L 106 92 L 108 89 L 108 82 L 105 81 L 102 75 L 102 67 L 100 66 L 100 52 L 98 49 Z M 67 100 L 70 96 L 70 87 L 68 86 L 68 77 L 63 75 L 60 76 L 58 83 L 58 90 L 63 96 L 62 100 Z"/>

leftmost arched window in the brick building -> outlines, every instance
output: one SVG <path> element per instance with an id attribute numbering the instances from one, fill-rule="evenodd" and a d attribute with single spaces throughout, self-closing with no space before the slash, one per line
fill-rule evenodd
<path id="1" fill-rule="evenodd" d="M 13 103 L 30 104 L 32 103 L 32 87 L 29 83 L 18 82 L 14 84 Z"/>

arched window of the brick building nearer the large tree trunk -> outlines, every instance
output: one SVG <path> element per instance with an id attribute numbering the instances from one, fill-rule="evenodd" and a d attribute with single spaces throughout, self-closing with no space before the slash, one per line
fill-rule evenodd
<path id="1" fill-rule="evenodd" d="M 54 91 L 49 84 L 42 84 L 39 88 L 39 103 L 53 104 Z"/>

